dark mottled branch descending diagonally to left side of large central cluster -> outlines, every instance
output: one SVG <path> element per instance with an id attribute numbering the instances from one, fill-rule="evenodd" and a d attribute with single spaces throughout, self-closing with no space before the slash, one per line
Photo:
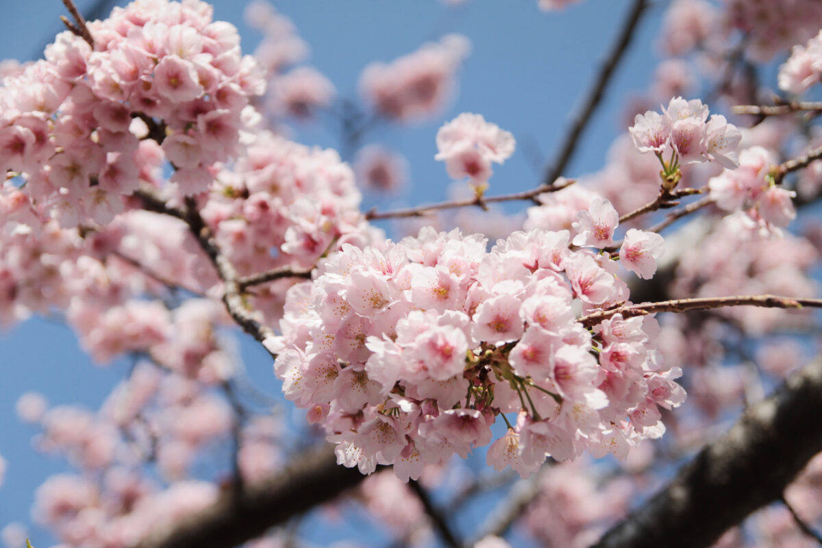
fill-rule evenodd
<path id="1" fill-rule="evenodd" d="M 234 266 L 231 264 L 231 261 L 219 251 L 214 233 L 205 223 L 200 212 L 197 211 L 195 201 L 190 197 L 186 198 L 186 207 L 181 210 L 167 205 L 158 196 L 155 196 L 147 190 L 136 191 L 134 196 L 142 200 L 145 210 L 171 215 L 187 223 L 197 243 L 200 244 L 201 249 L 205 251 L 205 255 L 211 260 L 211 264 L 217 269 L 219 279 L 223 281 L 223 303 L 226 310 L 229 311 L 229 315 L 231 315 L 233 320 L 237 322 L 247 334 L 252 335 L 252 337 L 261 343 L 266 340 L 266 338 L 273 337 L 274 331 L 266 325 L 261 325 L 260 322 L 254 318 L 251 307 L 247 305 L 242 295 Z M 271 356 L 276 357 L 273 353 Z"/>

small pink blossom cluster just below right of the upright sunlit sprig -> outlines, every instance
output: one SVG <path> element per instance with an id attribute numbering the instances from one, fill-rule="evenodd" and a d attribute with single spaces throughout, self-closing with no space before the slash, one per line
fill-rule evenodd
<path id="1" fill-rule="evenodd" d="M 775 185 L 769 170 L 778 163 L 776 154 L 762 146 L 742 150 L 740 166 L 725 169 L 708 182 L 710 196 L 726 211 L 745 210 L 755 223 L 787 227 L 797 216 L 792 198 L 795 191 Z"/>

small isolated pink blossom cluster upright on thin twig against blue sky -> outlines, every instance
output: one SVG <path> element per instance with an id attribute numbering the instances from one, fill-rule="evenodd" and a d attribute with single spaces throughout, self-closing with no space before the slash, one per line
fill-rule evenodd
<path id="1" fill-rule="evenodd" d="M 436 132 L 439 153 L 434 158 L 445 160 L 450 177 L 469 177 L 479 186 L 491 177 L 491 163 L 504 163 L 514 147 L 510 131 L 486 122 L 481 114 L 462 113 Z"/>

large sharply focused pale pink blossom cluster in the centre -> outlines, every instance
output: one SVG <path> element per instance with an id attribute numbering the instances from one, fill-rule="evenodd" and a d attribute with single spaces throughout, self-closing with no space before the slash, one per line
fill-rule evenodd
<path id="1" fill-rule="evenodd" d="M 625 455 L 662 435 L 658 406 L 683 400 L 680 371 L 658 361 L 653 318 L 577 321 L 628 288 L 607 254 L 569 245 L 567 231 L 535 229 L 486 251 L 423 229 L 382 250 L 344 246 L 289 290 L 283 336 L 266 341 L 286 397 L 340 463 L 393 463 L 404 480 L 490 443 L 500 413 L 519 417 L 489 459 L 521 474 L 547 454 Z"/>

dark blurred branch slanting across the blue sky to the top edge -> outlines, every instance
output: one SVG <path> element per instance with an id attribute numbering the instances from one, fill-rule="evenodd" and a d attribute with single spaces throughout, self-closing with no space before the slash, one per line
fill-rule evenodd
<path id="1" fill-rule="evenodd" d="M 565 141 L 562 143 L 559 152 L 556 154 L 556 159 L 545 170 L 543 186 L 547 186 L 556 181 L 562 172 L 565 171 L 571 157 L 574 155 L 576 146 L 580 140 L 580 136 L 582 136 L 582 132 L 588 125 L 593 112 L 597 109 L 600 101 L 603 99 L 603 94 L 605 94 L 605 90 L 611 82 L 611 77 L 628 49 L 630 39 L 633 37 L 634 30 L 639 24 L 646 7 L 648 7 L 647 0 L 634 0 L 634 4 L 630 8 L 626 21 L 622 24 L 622 29 L 617 37 L 616 44 L 614 44 L 611 48 L 608 48 L 608 51 L 610 51 L 611 54 L 605 62 L 603 62 L 602 67 L 599 69 L 597 80 L 593 83 L 593 87 L 589 91 L 588 97 L 586 97 L 582 108 L 580 108 L 579 113 L 575 117 L 574 122 L 571 123 L 570 131 L 566 133 Z"/>

